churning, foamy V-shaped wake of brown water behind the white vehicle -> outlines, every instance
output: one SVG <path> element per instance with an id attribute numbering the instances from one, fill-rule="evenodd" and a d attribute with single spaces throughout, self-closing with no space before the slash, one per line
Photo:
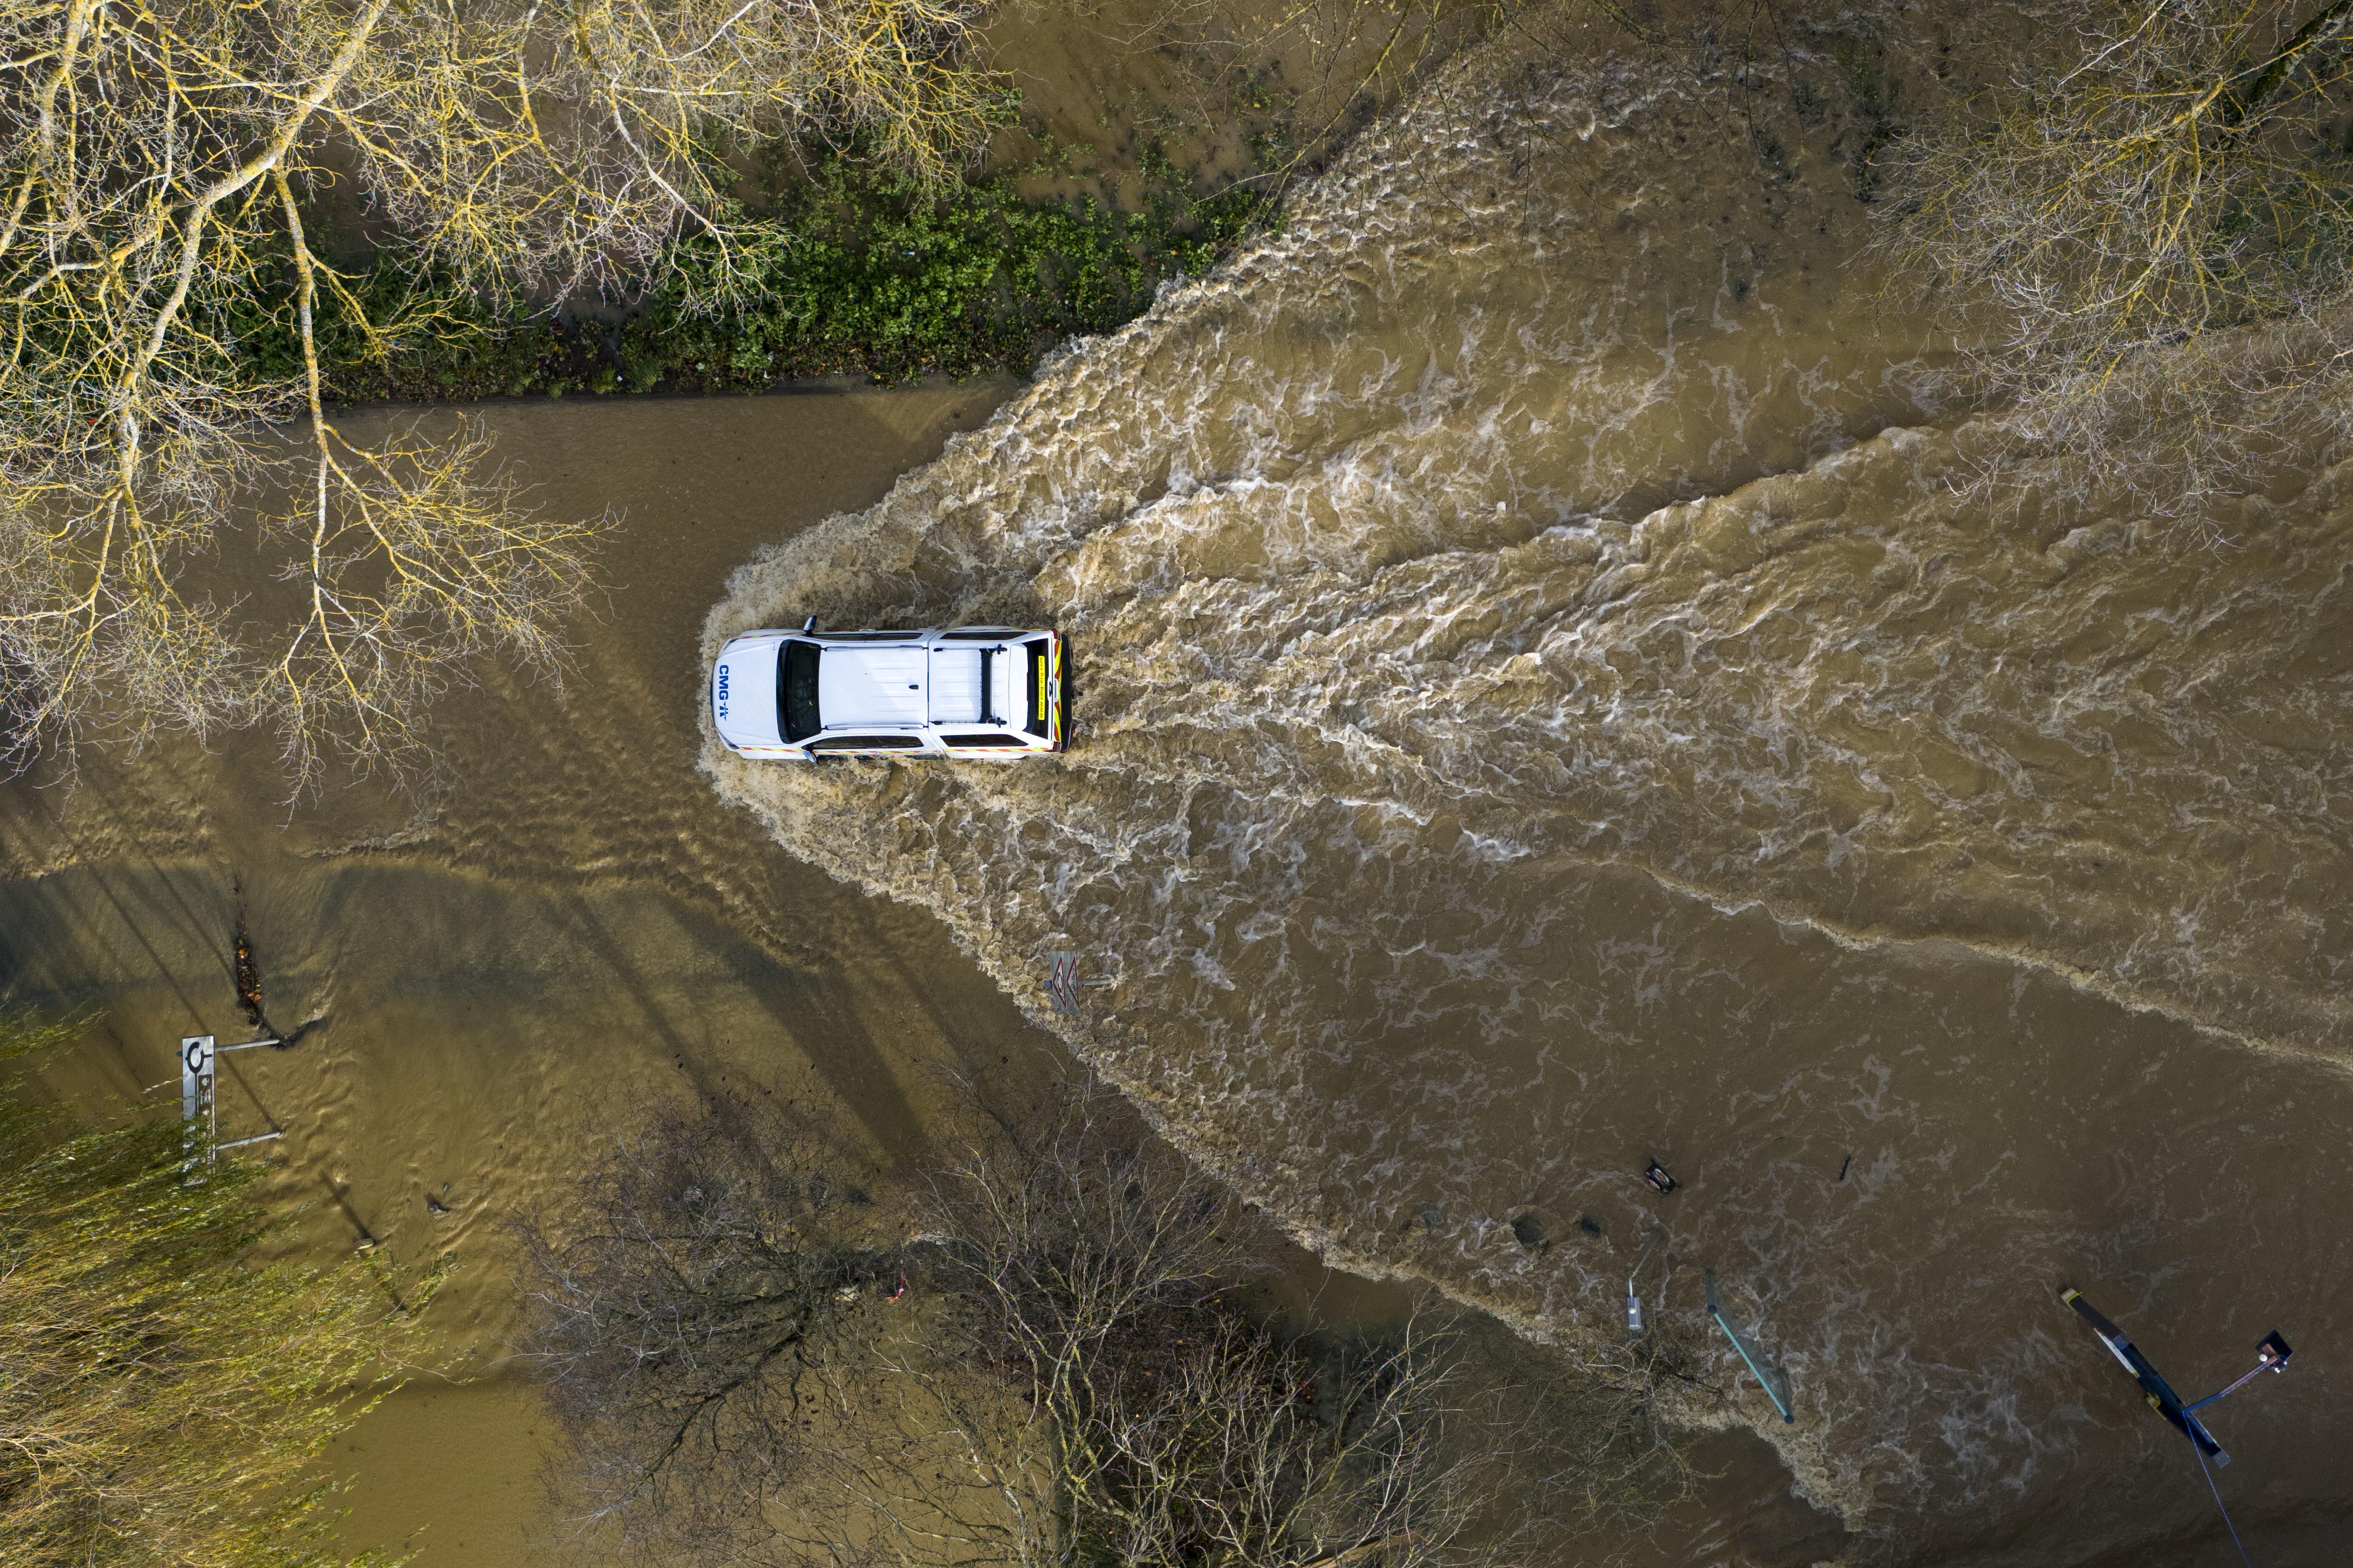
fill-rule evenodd
<path id="1" fill-rule="evenodd" d="M 2193 1561 L 2052 1286 L 2186 1387 L 2353 1326 L 2344 454 L 2221 550 L 2038 470 L 1772 113 L 1459 63 L 708 621 L 1059 625 L 1066 759 L 706 766 L 1040 1016 L 1082 952 L 1059 1027 L 1337 1258 L 1598 1342 L 1664 1225 L 1713 1418 L 1873 1549 Z M 2242 1530 L 2341 1530 L 2341 1392 L 2217 1418 Z"/>

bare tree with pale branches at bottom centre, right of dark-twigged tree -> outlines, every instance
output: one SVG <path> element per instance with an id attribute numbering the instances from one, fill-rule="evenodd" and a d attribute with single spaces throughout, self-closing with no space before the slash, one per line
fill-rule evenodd
<path id="1" fill-rule="evenodd" d="M 1433 1338 L 1318 1347 L 1254 1321 L 1231 1293 L 1252 1220 L 1113 1103 L 974 1152 L 929 1229 L 953 1309 L 885 1347 L 868 1420 L 889 1441 L 833 1542 L 911 1568 L 1304 1568 L 1433 1563 L 1461 1537 Z"/>

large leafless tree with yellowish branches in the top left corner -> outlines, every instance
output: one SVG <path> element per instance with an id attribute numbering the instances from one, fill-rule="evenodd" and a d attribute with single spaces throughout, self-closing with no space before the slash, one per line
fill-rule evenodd
<path id="1" fill-rule="evenodd" d="M 508 308 L 645 282 L 694 230 L 725 296 L 748 242 L 725 155 L 866 134 L 939 174 L 991 82 L 979 0 L 0 0 L 0 759 L 104 722 L 275 722 L 414 750 L 471 656 L 558 663 L 595 522 L 515 505 L 485 442 L 367 449 L 320 390 L 334 303 L 306 200 L 355 183 L 416 268 Z M 292 334 L 289 374 L 254 334 Z M 268 435 L 292 425 L 294 447 Z M 282 625 L 186 588 L 254 491 Z"/>

